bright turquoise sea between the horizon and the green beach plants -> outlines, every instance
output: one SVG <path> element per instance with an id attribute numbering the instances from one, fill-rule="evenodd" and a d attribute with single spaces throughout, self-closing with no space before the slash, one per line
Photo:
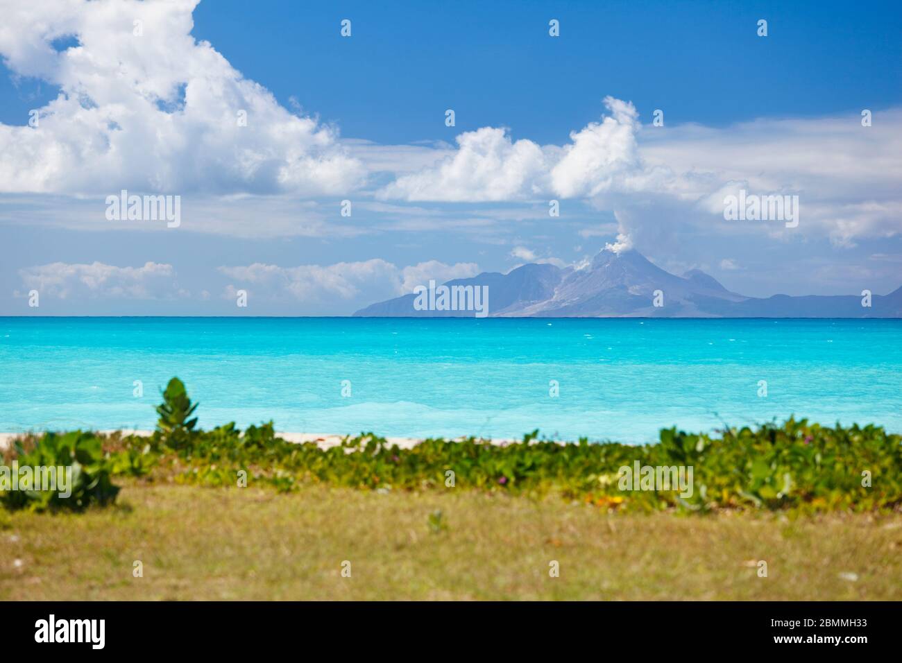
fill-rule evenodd
<path id="1" fill-rule="evenodd" d="M 0 431 L 153 428 L 173 375 L 204 428 L 636 443 L 795 413 L 902 431 L 902 320 L 0 318 Z"/>

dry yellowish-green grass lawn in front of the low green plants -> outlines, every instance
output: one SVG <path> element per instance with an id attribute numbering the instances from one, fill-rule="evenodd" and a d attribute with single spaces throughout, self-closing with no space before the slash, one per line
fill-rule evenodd
<path id="1" fill-rule="evenodd" d="M 0 510 L 0 599 L 899 600 L 902 516 L 629 515 L 460 489 L 129 480 L 106 509 Z"/>

